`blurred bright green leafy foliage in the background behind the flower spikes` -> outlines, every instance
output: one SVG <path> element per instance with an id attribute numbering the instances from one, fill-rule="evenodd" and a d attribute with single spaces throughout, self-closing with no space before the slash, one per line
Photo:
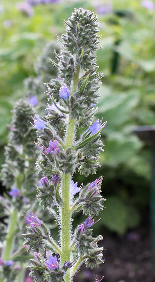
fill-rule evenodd
<path id="1" fill-rule="evenodd" d="M 74 8 L 94 12 L 99 8 L 93 0 L 64 0 L 35 6 L 34 15 L 27 17 L 18 11 L 18 2 L 1 2 L 0 156 L 7 141 L 10 110 L 23 96 L 23 80 L 36 76 L 37 56 L 46 42 L 64 32 L 61 19 L 67 19 Z M 148 205 L 150 147 L 132 128 L 155 123 L 155 10 L 142 7 L 138 0 L 113 0 L 111 12 L 99 13 L 99 22 L 104 49 L 98 52 L 98 64 L 104 78 L 98 118 L 108 121 L 102 132 L 102 169 L 97 174 L 105 175 L 103 194 L 107 197 L 101 223 L 121 235 L 137 226 L 139 212 Z M 1 157 L 1 164 L 3 161 Z M 86 181 L 77 177 L 79 182 Z M 90 176 L 87 182 L 94 178 Z"/>

